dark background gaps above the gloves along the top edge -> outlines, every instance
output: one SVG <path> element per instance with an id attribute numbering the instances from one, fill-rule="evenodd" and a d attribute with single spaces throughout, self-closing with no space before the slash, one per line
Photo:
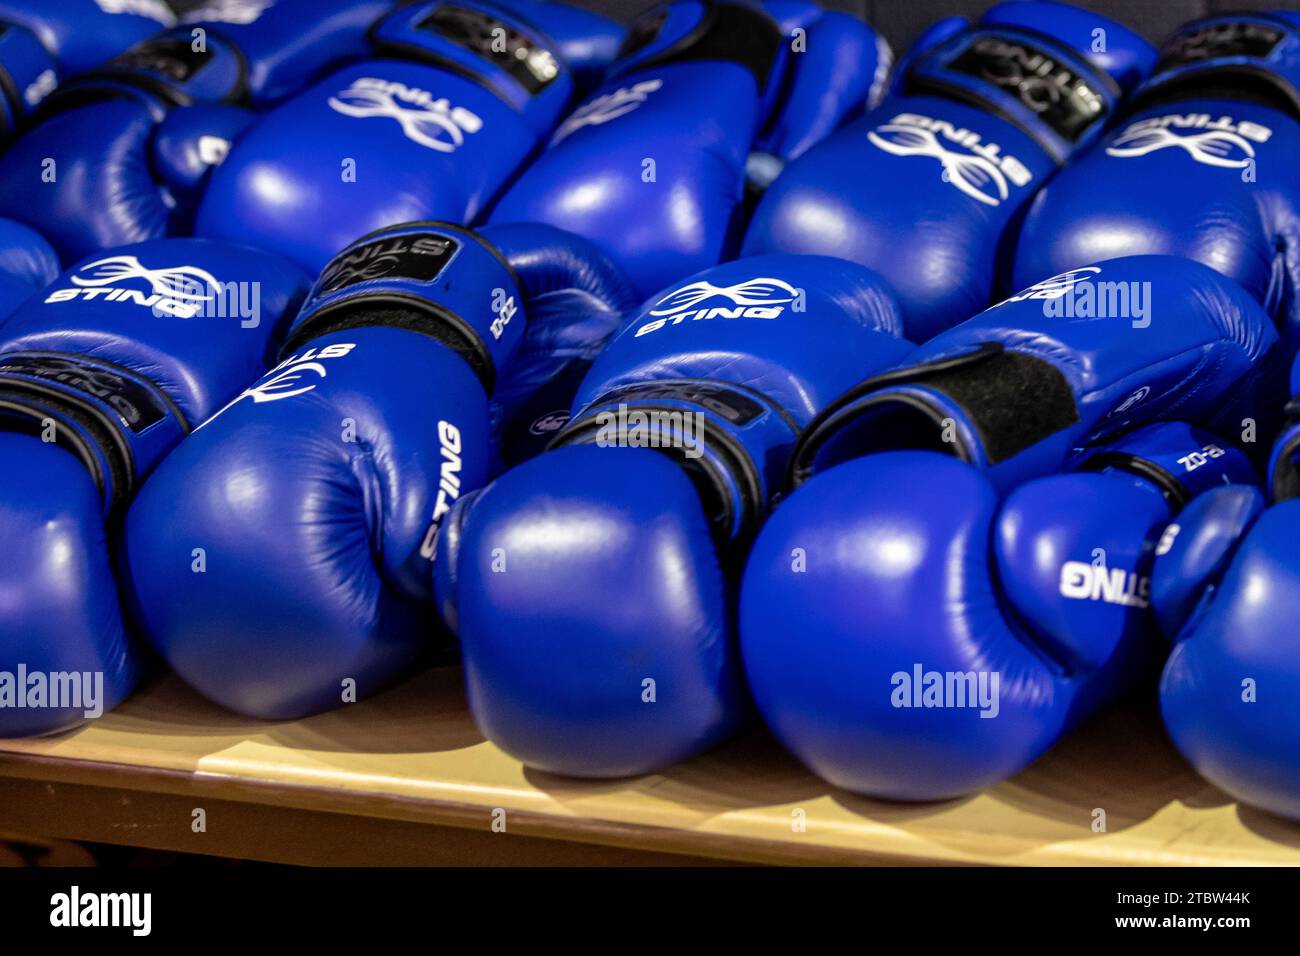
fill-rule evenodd
<path id="1" fill-rule="evenodd" d="M 568 0 L 577 7 L 599 10 L 620 20 L 630 20 L 654 5 L 654 0 Z M 979 14 L 994 0 L 822 0 L 822 5 L 850 10 L 883 33 L 894 49 L 905 51 L 911 42 L 940 17 L 954 13 Z M 1287 9 L 1300 10 L 1300 0 L 1084 0 L 1076 3 L 1089 10 L 1105 13 L 1158 43 L 1184 21 L 1225 10 Z"/>

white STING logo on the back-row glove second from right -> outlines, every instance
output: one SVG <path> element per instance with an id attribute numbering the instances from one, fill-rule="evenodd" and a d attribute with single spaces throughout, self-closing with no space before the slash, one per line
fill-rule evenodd
<path id="1" fill-rule="evenodd" d="M 948 148 L 940 137 L 965 152 Z M 892 156 L 939 160 L 945 182 L 985 206 L 1000 206 L 1010 195 L 1010 186 L 1024 186 L 1034 178 L 1015 156 L 1004 156 L 997 143 L 985 143 L 978 133 L 918 113 L 896 116 L 871 130 L 867 139 Z"/>

